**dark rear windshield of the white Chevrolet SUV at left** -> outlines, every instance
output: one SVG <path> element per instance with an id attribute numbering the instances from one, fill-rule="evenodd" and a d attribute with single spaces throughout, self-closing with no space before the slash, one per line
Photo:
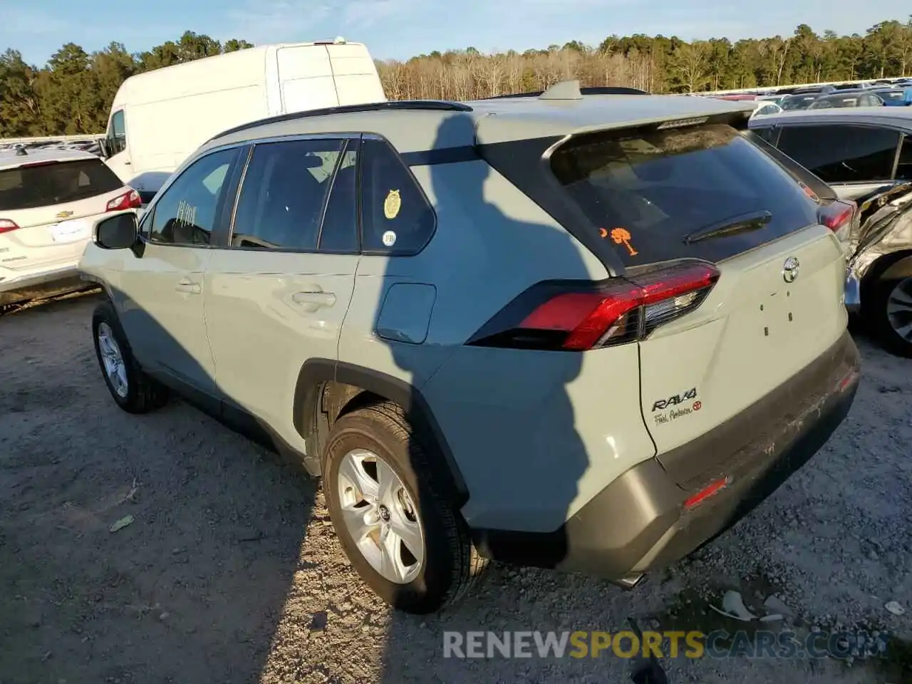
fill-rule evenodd
<path id="1" fill-rule="evenodd" d="M 0 211 L 78 202 L 122 186 L 98 159 L 37 162 L 0 171 Z"/>

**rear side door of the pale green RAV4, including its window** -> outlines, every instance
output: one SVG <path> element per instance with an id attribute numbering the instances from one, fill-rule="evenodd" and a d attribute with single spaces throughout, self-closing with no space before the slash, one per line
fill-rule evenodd
<path id="1" fill-rule="evenodd" d="M 216 378 L 230 407 L 292 446 L 295 380 L 308 358 L 337 358 L 358 268 L 360 136 L 254 144 L 224 246 L 206 273 Z"/>

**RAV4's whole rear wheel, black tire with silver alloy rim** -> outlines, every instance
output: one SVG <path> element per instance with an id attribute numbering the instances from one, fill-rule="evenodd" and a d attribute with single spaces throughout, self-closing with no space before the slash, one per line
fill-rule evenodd
<path id="1" fill-rule="evenodd" d="M 482 559 L 396 404 L 342 416 L 325 460 L 323 488 L 339 542 L 380 598 L 426 614 L 465 592 Z"/>

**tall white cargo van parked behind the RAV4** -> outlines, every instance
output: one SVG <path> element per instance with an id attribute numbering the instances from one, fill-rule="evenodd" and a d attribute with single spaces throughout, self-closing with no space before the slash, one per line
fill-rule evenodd
<path id="1" fill-rule="evenodd" d="M 385 100 L 368 48 L 342 38 L 204 57 L 121 84 L 108 119 L 106 163 L 147 203 L 193 150 L 223 130 Z"/>

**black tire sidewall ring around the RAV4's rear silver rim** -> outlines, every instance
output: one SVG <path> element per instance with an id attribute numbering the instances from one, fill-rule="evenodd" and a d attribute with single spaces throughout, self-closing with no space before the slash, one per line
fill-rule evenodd
<path id="1" fill-rule="evenodd" d="M 424 562 L 420 574 L 408 585 L 390 582 L 380 575 L 361 554 L 348 533 L 338 502 L 338 470 L 343 457 L 356 449 L 377 454 L 386 461 L 406 485 L 420 515 L 424 533 Z M 430 613 L 446 600 L 453 584 L 455 559 L 448 544 L 448 530 L 438 513 L 437 499 L 424 480 L 418 477 L 409 460 L 408 443 L 396 436 L 369 412 L 356 411 L 343 416 L 326 444 L 323 490 L 326 506 L 348 560 L 368 585 L 389 605 L 410 613 Z"/>

